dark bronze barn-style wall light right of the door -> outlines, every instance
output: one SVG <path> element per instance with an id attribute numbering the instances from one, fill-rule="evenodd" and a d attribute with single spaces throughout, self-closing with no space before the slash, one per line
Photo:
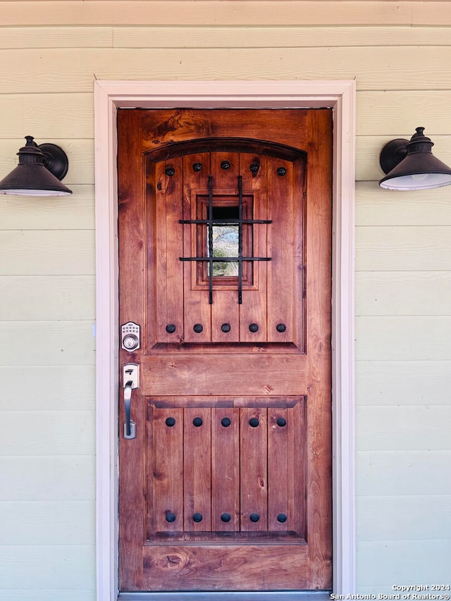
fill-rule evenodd
<path id="1" fill-rule="evenodd" d="M 381 151 L 385 175 L 379 182 L 387 190 L 428 190 L 451 185 L 451 168 L 433 156 L 433 142 L 424 128 L 416 128 L 410 140 L 392 140 Z"/>

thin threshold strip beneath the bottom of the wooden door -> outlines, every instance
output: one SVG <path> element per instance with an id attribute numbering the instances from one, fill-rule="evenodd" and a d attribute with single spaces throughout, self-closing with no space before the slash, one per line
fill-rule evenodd
<path id="1" fill-rule="evenodd" d="M 330 590 L 119 593 L 118 601 L 330 601 Z"/>

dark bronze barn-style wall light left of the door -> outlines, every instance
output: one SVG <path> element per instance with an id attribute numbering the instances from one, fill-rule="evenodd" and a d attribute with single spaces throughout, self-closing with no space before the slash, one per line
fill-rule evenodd
<path id="1" fill-rule="evenodd" d="M 19 164 L 0 182 L 0 194 L 20 196 L 68 196 L 72 194 L 61 180 L 68 172 L 66 152 L 56 144 L 34 142 L 25 136 L 27 144 L 18 151 Z"/>

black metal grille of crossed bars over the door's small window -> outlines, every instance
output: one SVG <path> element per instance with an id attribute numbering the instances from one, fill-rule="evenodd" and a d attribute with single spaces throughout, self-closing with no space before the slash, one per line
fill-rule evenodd
<path id="1" fill-rule="evenodd" d="M 180 219 L 179 223 L 194 223 L 206 225 L 208 231 L 208 256 L 180 256 L 180 261 L 202 261 L 209 264 L 209 304 L 213 304 L 213 264 L 230 263 L 238 264 L 238 304 L 242 304 L 242 263 L 243 261 L 271 261 L 270 256 L 242 256 L 242 228 L 243 225 L 259 223 L 273 223 L 271 219 L 243 219 L 242 218 L 242 175 L 238 175 L 238 218 L 214 219 L 213 216 L 213 175 L 209 175 L 209 208 L 207 219 Z M 238 226 L 238 255 L 213 256 L 213 228 L 214 226 Z M 252 252 L 252 255 L 254 253 Z"/>

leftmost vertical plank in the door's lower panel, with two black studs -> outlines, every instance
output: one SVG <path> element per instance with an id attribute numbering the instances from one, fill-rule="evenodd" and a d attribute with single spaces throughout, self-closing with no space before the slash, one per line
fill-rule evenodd
<path id="1" fill-rule="evenodd" d="M 161 409 L 154 407 L 152 469 L 149 470 L 152 491 L 148 495 L 148 514 L 154 512 L 157 532 L 183 530 L 183 409 Z M 166 425 L 166 419 L 175 420 L 173 426 Z M 152 428 L 152 421 L 149 421 Z M 174 521 L 168 521 L 169 513 L 175 514 Z"/>

